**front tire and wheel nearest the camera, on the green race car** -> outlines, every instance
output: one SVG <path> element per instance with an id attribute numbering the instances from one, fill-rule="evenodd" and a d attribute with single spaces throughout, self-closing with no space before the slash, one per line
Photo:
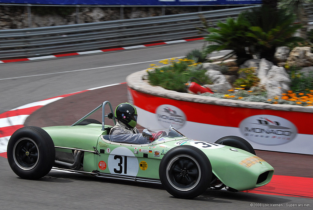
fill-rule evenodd
<path id="1" fill-rule="evenodd" d="M 168 151 L 160 162 L 159 176 L 163 187 L 178 198 L 191 199 L 209 187 L 212 166 L 198 148 L 182 145 Z"/>

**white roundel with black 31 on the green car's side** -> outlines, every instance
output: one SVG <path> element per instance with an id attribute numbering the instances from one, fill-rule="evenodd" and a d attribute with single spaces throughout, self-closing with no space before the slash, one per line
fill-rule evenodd
<path id="1" fill-rule="evenodd" d="M 137 158 L 131 150 L 125 147 L 117 147 L 110 152 L 108 168 L 111 174 L 136 176 L 139 165 Z"/>

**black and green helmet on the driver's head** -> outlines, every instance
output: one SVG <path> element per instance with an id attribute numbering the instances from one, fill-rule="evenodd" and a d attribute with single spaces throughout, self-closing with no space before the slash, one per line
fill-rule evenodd
<path id="1" fill-rule="evenodd" d="M 115 118 L 131 128 L 137 124 L 137 109 L 130 103 L 121 103 L 115 109 Z"/>

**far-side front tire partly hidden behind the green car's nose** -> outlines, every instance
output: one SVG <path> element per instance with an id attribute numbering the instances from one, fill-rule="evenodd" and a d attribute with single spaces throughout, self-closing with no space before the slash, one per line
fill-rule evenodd
<path id="1" fill-rule="evenodd" d="M 245 139 L 243 139 L 239 136 L 225 136 L 223 138 L 218 139 L 214 143 L 215 144 L 223 144 L 223 145 L 230 146 L 230 147 L 235 147 L 235 148 L 245 150 L 247 152 L 250 152 L 250 153 L 256 155 L 251 144 L 249 144 L 248 141 L 246 141 Z"/>

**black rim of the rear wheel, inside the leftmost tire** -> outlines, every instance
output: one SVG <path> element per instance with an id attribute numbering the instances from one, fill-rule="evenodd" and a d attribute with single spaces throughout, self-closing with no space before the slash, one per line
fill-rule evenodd
<path id="1" fill-rule="evenodd" d="M 39 160 L 39 150 L 33 139 L 19 139 L 13 147 L 13 159 L 23 170 L 34 168 Z"/>

